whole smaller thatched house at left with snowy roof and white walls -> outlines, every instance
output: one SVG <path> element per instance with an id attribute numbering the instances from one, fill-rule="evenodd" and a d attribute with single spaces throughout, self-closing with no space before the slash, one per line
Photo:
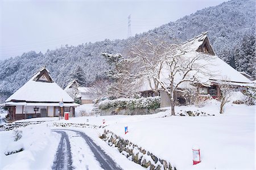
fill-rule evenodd
<path id="1" fill-rule="evenodd" d="M 63 107 L 60 108 L 60 102 Z M 61 112 L 75 116 L 75 107 L 71 96 L 52 79 L 46 67 L 38 70 L 30 80 L 5 101 L 10 120 L 34 117 L 58 117 Z"/>

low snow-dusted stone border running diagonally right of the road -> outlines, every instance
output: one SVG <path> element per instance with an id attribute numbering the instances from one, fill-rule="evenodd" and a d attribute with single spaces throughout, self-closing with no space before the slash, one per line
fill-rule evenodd
<path id="1" fill-rule="evenodd" d="M 109 146 L 117 147 L 121 154 L 125 155 L 129 160 L 142 165 L 142 167 L 149 167 L 150 170 L 176 170 L 176 167 L 172 167 L 171 163 L 160 159 L 151 152 L 144 150 L 142 147 L 119 137 L 112 131 L 104 130 L 104 133 L 100 138 L 108 143 Z"/>

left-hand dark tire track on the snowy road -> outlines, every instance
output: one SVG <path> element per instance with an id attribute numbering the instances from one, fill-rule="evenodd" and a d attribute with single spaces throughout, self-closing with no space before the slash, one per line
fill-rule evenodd
<path id="1" fill-rule="evenodd" d="M 52 169 L 54 170 L 73 169 L 71 146 L 69 143 L 68 135 L 64 131 L 56 130 L 55 132 L 61 134 L 61 138 L 60 138 L 60 143 L 55 155 L 55 160 L 52 165 Z"/>

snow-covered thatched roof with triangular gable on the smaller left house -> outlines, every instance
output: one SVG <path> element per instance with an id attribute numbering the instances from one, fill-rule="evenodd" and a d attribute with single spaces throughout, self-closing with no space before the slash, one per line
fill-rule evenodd
<path id="1" fill-rule="evenodd" d="M 64 103 L 73 103 L 74 100 L 59 87 L 46 67 L 38 70 L 30 80 L 19 88 L 8 101 L 24 101 L 24 102 L 56 102 L 63 100 Z"/>

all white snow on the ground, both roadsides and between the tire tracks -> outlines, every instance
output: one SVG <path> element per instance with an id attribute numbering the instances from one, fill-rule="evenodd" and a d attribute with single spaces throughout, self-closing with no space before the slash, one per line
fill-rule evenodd
<path id="1" fill-rule="evenodd" d="M 20 142 L 24 146 L 24 151 L 9 156 L 3 153 L 11 145 L 13 134 L 12 131 L 1 131 L 1 169 L 17 167 L 31 169 L 38 165 L 37 162 L 40 162 L 38 166 L 41 168 L 50 168 L 60 136 L 49 131 L 46 124 L 49 126 L 52 122 L 76 122 L 102 125 L 103 119 L 106 121 L 104 125 L 107 125 L 104 129 L 129 139 L 159 158 L 172 163 L 177 169 L 255 169 L 255 106 L 229 103 L 224 114 L 218 113 L 218 103 L 213 102 L 203 108 L 176 107 L 177 112 L 181 110 L 199 110 L 215 116 L 167 116 L 170 113 L 168 110 L 150 115 L 88 116 L 69 118 L 68 121 L 53 120 L 20 128 L 23 129 L 23 138 Z M 125 126 L 128 126 L 129 130 L 127 134 L 125 134 Z M 51 127 L 51 129 L 60 128 Z M 119 154 L 117 148 L 108 146 L 98 138 L 104 129 L 69 129 L 84 131 L 122 168 L 143 169 Z M 93 157 L 90 157 L 88 155 L 90 152 L 86 151 L 88 150 L 86 143 L 75 134 L 68 133 L 68 135 L 75 167 L 81 168 L 82 165 L 79 162 L 82 157 L 77 154 L 78 152 L 84 152 L 84 156 L 87 154 L 88 160 L 92 160 L 90 163 L 93 163 Z M 85 146 L 84 148 L 78 147 L 79 141 L 81 146 Z M 202 162 L 197 165 L 192 165 L 193 145 L 199 146 L 201 150 Z M 88 164 L 86 161 L 82 163 Z M 98 164 L 90 167 L 96 168 Z"/>

